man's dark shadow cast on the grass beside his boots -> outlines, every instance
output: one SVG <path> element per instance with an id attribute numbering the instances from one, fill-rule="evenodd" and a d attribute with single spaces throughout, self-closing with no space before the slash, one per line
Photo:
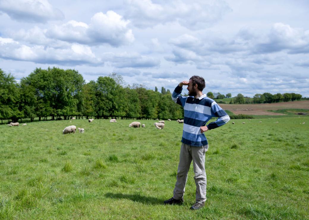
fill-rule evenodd
<path id="1" fill-rule="evenodd" d="M 141 196 L 139 194 L 122 194 L 122 193 L 112 193 L 108 192 L 104 195 L 107 198 L 112 198 L 112 199 L 129 199 L 134 202 L 140 202 L 143 204 L 152 204 L 152 205 L 163 205 L 163 200 L 154 198 L 154 197 L 146 197 L 146 196 Z"/>

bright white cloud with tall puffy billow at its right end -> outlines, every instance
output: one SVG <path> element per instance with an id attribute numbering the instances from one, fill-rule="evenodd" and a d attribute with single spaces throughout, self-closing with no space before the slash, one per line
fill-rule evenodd
<path id="1" fill-rule="evenodd" d="M 109 44 L 118 47 L 134 41 L 132 30 L 127 27 L 128 23 L 129 21 L 124 20 L 121 15 L 108 11 L 106 14 L 99 12 L 93 15 L 89 24 L 70 20 L 46 29 L 38 27 L 28 31 L 22 29 L 17 33 L 11 32 L 10 36 L 40 45 L 64 41 L 89 45 Z"/>

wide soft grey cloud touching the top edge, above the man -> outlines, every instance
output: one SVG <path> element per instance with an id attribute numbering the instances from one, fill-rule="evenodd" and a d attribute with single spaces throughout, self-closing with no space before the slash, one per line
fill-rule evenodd
<path id="1" fill-rule="evenodd" d="M 189 29 L 205 28 L 231 11 L 225 1 L 162 1 L 126 0 L 125 16 L 139 28 L 178 22 Z M 192 16 L 194 15 L 194 16 Z"/>

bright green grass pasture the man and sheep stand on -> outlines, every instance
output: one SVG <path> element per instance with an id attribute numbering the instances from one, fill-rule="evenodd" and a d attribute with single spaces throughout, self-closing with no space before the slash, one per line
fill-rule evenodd
<path id="1" fill-rule="evenodd" d="M 197 211 L 189 210 L 192 166 L 184 205 L 163 205 L 183 125 L 117 121 L 0 125 L 0 219 L 309 218 L 308 116 L 231 120 L 207 131 L 207 201 Z M 85 133 L 62 135 L 71 124 Z"/>

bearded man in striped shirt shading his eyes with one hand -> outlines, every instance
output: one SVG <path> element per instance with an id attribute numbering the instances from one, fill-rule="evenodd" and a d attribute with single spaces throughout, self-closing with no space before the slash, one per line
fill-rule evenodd
<path id="1" fill-rule="evenodd" d="M 189 93 L 187 97 L 180 95 L 183 85 L 188 85 Z M 180 82 L 172 94 L 174 102 L 184 107 L 184 129 L 173 197 L 164 201 L 164 205 L 182 204 L 184 202 L 184 189 L 192 160 L 196 202 L 191 206 L 191 209 L 200 209 L 205 205 L 205 152 L 208 150 L 208 142 L 204 132 L 226 124 L 230 117 L 213 99 L 202 93 L 204 88 L 204 78 L 192 76 L 189 82 Z M 218 119 L 206 126 L 207 121 L 212 117 L 218 117 Z"/>

